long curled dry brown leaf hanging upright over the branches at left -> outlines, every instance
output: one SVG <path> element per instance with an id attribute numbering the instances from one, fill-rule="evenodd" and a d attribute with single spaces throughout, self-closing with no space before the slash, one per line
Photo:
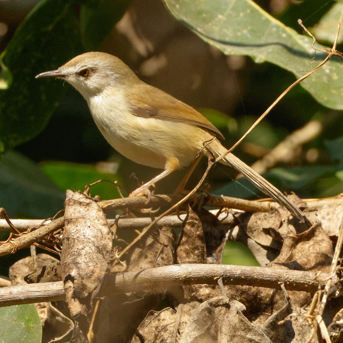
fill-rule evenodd
<path id="1" fill-rule="evenodd" d="M 100 206 L 81 192 L 67 190 L 60 264 L 73 318 L 90 309 L 90 297 L 85 298 L 99 286 L 111 249 L 112 234 Z"/>

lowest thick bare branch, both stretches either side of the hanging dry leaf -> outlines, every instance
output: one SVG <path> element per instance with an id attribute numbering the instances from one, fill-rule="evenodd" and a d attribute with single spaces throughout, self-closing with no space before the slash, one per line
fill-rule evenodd
<path id="1" fill-rule="evenodd" d="M 103 295 L 136 292 L 156 287 L 170 288 L 176 285 L 216 285 L 221 277 L 225 285 L 248 285 L 280 289 L 279 283 L 293 291 L 315 292 L 316 273 L 278 268 L 247 267 L 223 264 L 174 264 L 164 267 L 112 274 L 104 277 Z M 327 278 L 328 274 L 321 274 Z M 333 282 L 336 282 L 336 276 Z M 321 282 L 324 287 L 324 282 Z M 64 300 L 62 281 L 28 284 L 0 288 L 0 306 Z"/>

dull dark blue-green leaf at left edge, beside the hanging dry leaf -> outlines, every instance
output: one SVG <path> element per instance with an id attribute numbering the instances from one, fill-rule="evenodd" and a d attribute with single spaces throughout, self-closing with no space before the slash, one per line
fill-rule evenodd
<path id="1" fill-rule="evenodd" d="M 1 157 L 0 175 L 0 207 L 10 217 L 48 218 L 63 208 L 64 192 L 18 152 L 9 151 Z"/>

